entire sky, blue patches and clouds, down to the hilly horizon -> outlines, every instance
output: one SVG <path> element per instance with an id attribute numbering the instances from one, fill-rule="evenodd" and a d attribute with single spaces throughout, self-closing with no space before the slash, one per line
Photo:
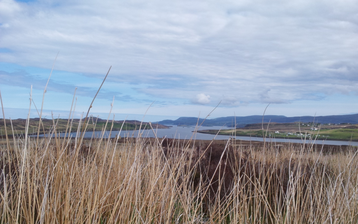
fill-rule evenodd
<path id="1" fill-rule="evenodd" d="M 76 87 L 86 113 L 110 66 L 100 118 L 358 113 L 358 1 L 0 0 L 5 118 L 26 118 L 30 93 L 39 116 L 52 66 L 47 118 Z"/>

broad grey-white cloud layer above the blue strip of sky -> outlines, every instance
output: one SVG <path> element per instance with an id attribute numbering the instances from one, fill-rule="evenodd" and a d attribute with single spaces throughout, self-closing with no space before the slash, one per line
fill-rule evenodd
<path id="1" fill-rule="evenodd" d="M 357 11 L 353 0 L 1 0 L 0 58 L 49 68 L 59 51 L 55 69 L 87 77 L 112 65 L 109 82 L 137 85 L 131 99 L 168 106 L 319 101 L 358 94 Z"/>

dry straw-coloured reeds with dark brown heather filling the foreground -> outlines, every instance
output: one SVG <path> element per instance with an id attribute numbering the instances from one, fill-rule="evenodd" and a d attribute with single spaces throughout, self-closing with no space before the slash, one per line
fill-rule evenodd
<path id="1" fill-rule="evenodd" d="M 1 146 L 0 223 L 358 223 L 354 147 L 55 136 Z"/>

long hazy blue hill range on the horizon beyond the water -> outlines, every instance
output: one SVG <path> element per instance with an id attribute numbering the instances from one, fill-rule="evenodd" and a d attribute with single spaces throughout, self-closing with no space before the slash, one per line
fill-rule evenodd
<path id="1" fill-rule="evenodd" d="M 164 125 L 196 125 L 201 124 L 204 119 L 194 117 L 181 117 L 176 120 L 162 120 L 158 124 Z M 282 115 L 265 115 L 263 122 L 277 122 L 277 123 L 292 123 L 292 122 L 313 122 L 315 121 L 322 124 L 340 124 L 350 123 L 358 124 L 358 114 L 347 114 L 347 115 L 329 115 L 329 116 L 296 116 L 286 117 Z M 262 115 L 251 115 L 251 116 L 228 116 L 222 118 L 206 119 L 202 126 L 228 126 L 228 127 L 244 127 L 246 124 L 255 124 L 262 122 Z"/>

